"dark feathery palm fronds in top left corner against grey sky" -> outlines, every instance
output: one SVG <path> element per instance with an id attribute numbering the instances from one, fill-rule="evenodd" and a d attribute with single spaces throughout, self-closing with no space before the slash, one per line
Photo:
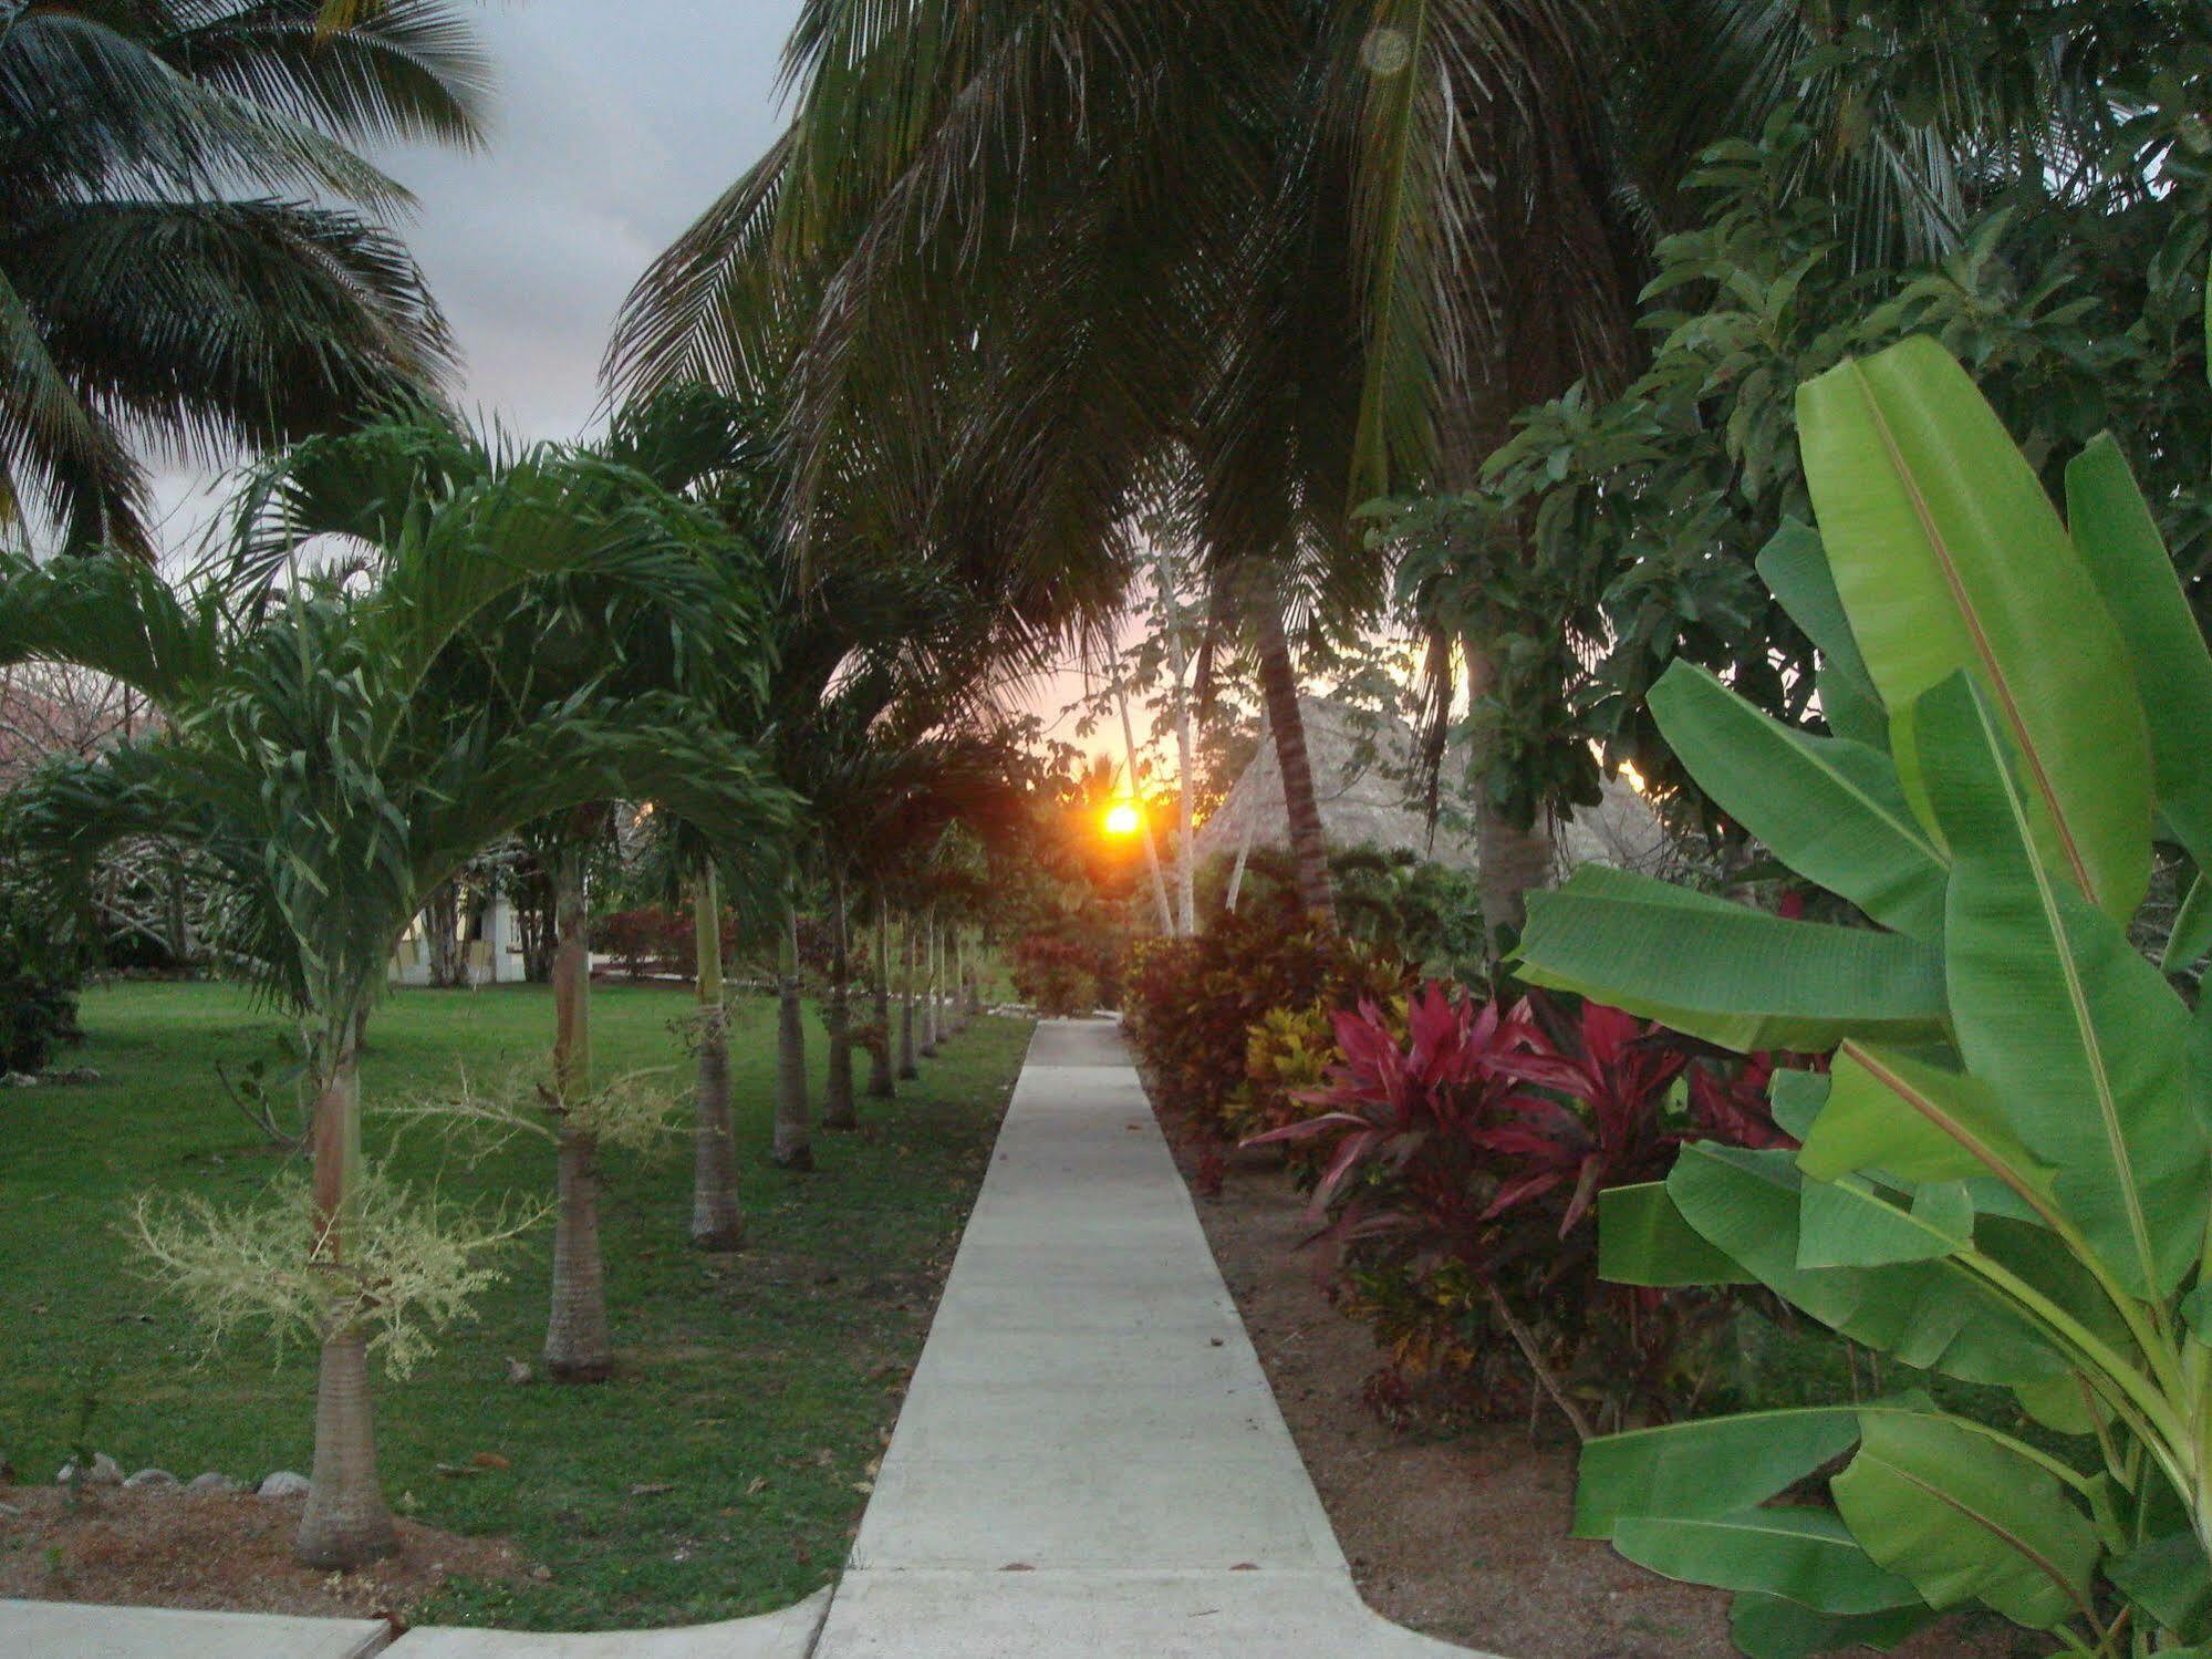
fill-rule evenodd
<path id="1" fill-rule="evenodd" d="M 0 529 L 153 555 L 142 451 L 221 460 L 436 389 L 372 142 L 473 146 L 462 7 L 0 0 Z"/>

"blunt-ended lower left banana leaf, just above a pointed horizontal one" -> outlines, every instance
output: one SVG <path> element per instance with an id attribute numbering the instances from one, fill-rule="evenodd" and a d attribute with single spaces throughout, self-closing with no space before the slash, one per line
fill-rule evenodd
<path id="1" fill-rule="evenodd" d="M 1856 1440 L 1851 1407 L 1745 1411 L 1590 1440 L 1575 1486 L 1575 1537 L 1613 1537 L 1632 1515 L 1717 1520 L 1754 1509 Z"/>

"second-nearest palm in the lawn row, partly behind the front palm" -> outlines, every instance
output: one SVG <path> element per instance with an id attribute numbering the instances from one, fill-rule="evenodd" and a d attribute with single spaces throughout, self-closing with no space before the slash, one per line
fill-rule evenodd
<path id="1" fill-rule="evenodd" d="M 763 571 L 750 546 L 703 507 L 677 491 L 741 465 L 748 411 L 723 398 L 672 392 L 617 414 L 595 451 L 546 451 L 588 487 L 599 511 L 628 524 L 648 544 L 690 555 L 686 586 L 644 588 L 608 573 L 577 568 L 518 591 L 504 611 L 478 615 L 467 650 L 456 653 L 460 695 L 500 703 L 520 719 L 529 708 L 580 695 L 624 699 L 668 697 L 719 730 L 754 726 L 765 648 Z M 305 540 L 343 533 L 372 557 L 389 562 L 407 535 L 411 511 L 456 491 L 500 489 L 538 451 L 509 456 L 436 418 L 394 418 L 338 438 L 312 440 L 263 467 L 246 493 L 232 571 L 265 573 Z M 706 796 L 712 807 L 712 796 Z M 690 867 L 748 847 L 719 841 L 681 810 L 681 796 L 657 801 L 668 821 L 690 827 Z M 604 799 L 577 803 L 538 825 L 553 849 L 553 1121 L 555 1210 L 553 1283 L 546 1316 L 546 1374 L 562 1383 L 599 1383 L 613 1371 L 606 1274 L 599 1250 L 599 1137 L 591 1110 L 591 971 L 584 867 L 591 845 L 608 832 Z M 706 830 L 706 834 L 701 834 Z M 710 929 L 712 936 L 712 929 Z M 714 1073 L 728 1075 L 719 1020 L 706 1020 L 706 1051 L 695 1141 L 728 1139 L 717 1108 Z M 726 1091 L 723 1091 L 726 1093 Z M 714 1164 L 712 1148 L 703 1157 Z M 728 1234 L 732 1181 L 712 1181 L 712 1225 Z M 734 1179 L 734 1177 L 732 1177 Z M 697 1206 L 695 1206 L 697 1208 Z"/>

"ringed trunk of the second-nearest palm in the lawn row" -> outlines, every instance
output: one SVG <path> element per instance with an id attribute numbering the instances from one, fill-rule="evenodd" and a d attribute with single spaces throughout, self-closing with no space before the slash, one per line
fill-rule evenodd
<path id="1" fill-rule="evenodd" d="M 599 1259 L 599 1137 L 571 1128 L 591 1093 L 591 933 L 584 918 L 584 849 L 560 854 L 553 894 L 553 1093 L 555 1197 L 553 1298 L 546 1376 L 604 1383 L 615 1369 L 606 1329 L 606 1263 Z"/>

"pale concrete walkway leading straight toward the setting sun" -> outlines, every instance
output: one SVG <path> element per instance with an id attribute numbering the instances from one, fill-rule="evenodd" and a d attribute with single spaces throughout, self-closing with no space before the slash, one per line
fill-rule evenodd
<path id="1" fill-rule="evenodd" d="M 1358 1599 L 1119 1031 L 1104 1022 L 1037 1026 L 852 1562 L 823 1595 L 692 1630 L 416 1630 L 383 1650 L 387 1659 L 1469 1652 L 1400 1630 Z M 383 1639 L 383 1626 L 0 1601 L 0 1655 L 42 1659 L 356 1659 Z"/>

